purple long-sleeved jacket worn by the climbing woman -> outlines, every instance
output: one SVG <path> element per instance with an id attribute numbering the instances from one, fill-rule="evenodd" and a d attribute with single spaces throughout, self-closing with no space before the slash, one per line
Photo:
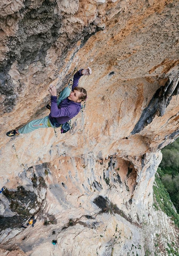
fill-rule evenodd
<path id="1" fill-rule="evenodd" d="M 81 74 L 81 69 L 77 71 L 73 77 L 72 90 L 78 86 Z M 51 110 L 49 120 L 52 125 L 59 127 L 61 124 L 66 123 L 75 115 L 80 112 L 81 103 L 69 100 L 68 97 L 57 106 L 57 96 L 51 96 Z"/>

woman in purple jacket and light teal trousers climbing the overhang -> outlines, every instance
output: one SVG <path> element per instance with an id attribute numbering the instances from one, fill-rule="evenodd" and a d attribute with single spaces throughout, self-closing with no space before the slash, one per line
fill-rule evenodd
<path id="1" fill-rule="evenodd" d="M 57 89 L 50 85 L 51 94 L 50 115 L 45 118 L 32 120 L 18 130 L 12 130 L 6 133 L 7 136 L 17 136 L 20 133 L 30 133 L 38 128 L 56 128 L 67 123 L 80 112 L 81 102 L 86 100 L 87 92 L 84 88 L 78 87 L 79 79 L 82 75 L 90 75 L 91 69 L 80 69 L 73 77 L 72 91 L 69 87 L 64 88 L 57 99 Z"/>

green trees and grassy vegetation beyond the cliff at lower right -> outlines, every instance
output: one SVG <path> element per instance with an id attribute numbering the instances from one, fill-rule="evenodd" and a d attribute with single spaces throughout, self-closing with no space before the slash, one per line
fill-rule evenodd
<path id="1" fill-rule="evenodd" d="M 154 190 L 154 207 L 161 208 L 179 228 L 179 138 L 162 149 L 162 162 L 157 170 Z M 177 211 L 176 211 L 177 210 Z M 159 238 L 159 234 L 156 234 Z M 159 243 L 154 246 L 158 249 Z M 158 251 L 154 253 L 157 256 Z M 172 242 L 165 248 L 167 256 L 179 256 L 178 248 Z M 145 254 L 148 256 L 150 254 Z"/>

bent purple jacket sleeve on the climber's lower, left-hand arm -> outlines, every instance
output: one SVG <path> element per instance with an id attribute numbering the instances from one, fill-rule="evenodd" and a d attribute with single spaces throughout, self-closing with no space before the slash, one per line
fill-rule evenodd
<path id="1" fill-rule="evenodd" d="M 65 108 L 57 107 L 57 96 L 51 96 L 51 117 L 60 117 L 60 116 L 72 116 L 74 109 L 72 106 L 68 106 Z"/>

